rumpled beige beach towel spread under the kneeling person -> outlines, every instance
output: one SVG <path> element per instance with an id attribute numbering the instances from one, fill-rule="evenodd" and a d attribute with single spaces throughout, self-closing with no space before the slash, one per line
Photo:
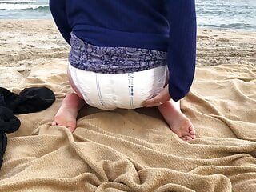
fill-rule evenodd
<path id="1" fill-rule="evenodd" d="M 183 142 L 157 109 L 85 107 L 71 134 L 50 126 L 70 86 L 66 62 L 35 66 L 25 87 L 47 86 L 49 109 L 18 115 L 8 135 L 0 191 L 256 191 L 256 69 L 198 66 L 182 111 L 197 131 Z"/>

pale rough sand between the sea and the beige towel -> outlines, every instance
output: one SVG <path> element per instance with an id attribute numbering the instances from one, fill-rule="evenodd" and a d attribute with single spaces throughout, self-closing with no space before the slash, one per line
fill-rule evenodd
<path id="1" fill-rule="evenodd" d="M 0 20 L 0 86 L 17 86 L 32 66 L 69 50 L 52 20 Z M 198 29 L 197 65 L 221 64 L 256 66 L 256 32 Z"/>

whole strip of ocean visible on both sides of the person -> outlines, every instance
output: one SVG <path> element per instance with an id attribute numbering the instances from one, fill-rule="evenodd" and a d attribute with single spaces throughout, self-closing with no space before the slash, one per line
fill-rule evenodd
<path id="1" fill-rule="evenodd" d="M 51 18 L 48 2 L 0 0 L 0 19 Z M 196 0 L 196 10 L 198 27 L 256 31 L 256 0 Z"/>

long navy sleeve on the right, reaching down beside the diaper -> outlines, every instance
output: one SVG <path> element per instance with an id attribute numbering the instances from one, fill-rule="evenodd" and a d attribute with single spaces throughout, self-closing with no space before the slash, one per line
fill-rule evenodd
<path id="1" fill-rule="evenodd" d="M 174 101 L 185 97 L 194 79 L 196 60 L 196 13 L 194 0 L 166 0 L 170 24 L 167 65 L 169 93 Z"/>

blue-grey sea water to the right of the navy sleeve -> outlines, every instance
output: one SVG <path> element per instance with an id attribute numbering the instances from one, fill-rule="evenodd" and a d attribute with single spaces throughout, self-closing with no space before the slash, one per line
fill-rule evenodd
<path id="1" fill-rule="evenodd" d="M 198 26 L 256 31 L 256 0 L 196 0 Z"/>

